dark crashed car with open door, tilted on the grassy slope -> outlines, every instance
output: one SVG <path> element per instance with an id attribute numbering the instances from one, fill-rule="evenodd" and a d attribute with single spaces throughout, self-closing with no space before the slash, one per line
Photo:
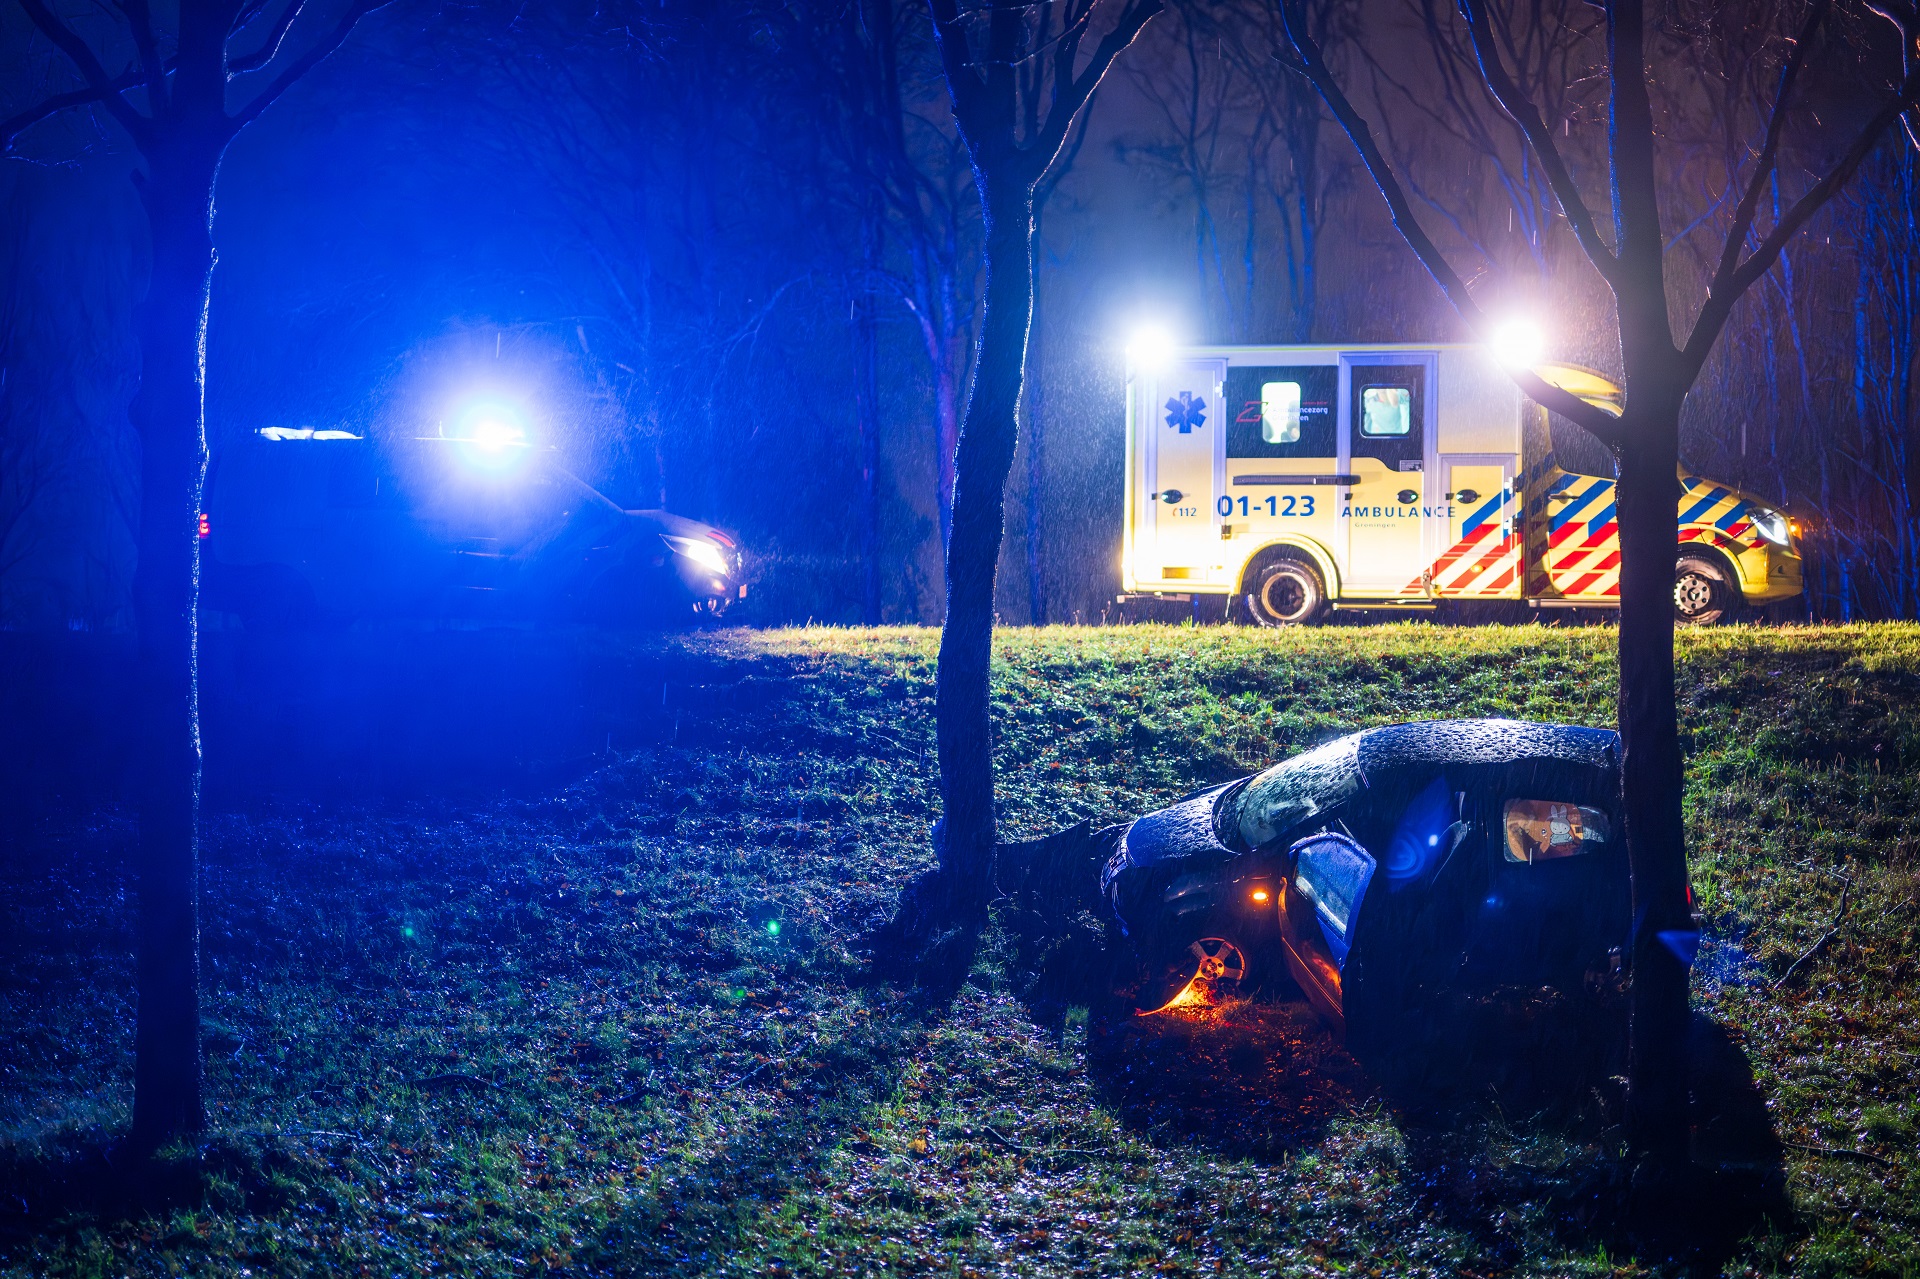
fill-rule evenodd
<path id="1" fill-rule="evenodd" d="M 1496 989 L 1613 997 L 1630 906 L 1619 736 L 1350 734 L 1119 833 L 1102 895 L 1152 1012 L 1284 972 L 1340 1033 Z"/>

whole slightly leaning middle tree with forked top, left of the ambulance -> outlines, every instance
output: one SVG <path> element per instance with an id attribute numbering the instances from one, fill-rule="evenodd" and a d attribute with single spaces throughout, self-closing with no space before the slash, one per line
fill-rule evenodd
<path id="1" fill-rule="evenodd" d="M 1033 188 L 1052 167 L 1114 60 L 1160 13 L 1123 0 L 1085 56 L 1098 0 L 1043 0 L 962 10 L 931 0 L 954 121 L 973 163 L 985 227 L 985 309 L 954 455 L 947 538 L 947 620 L 935 686 L 935 739 L 945 801 L 939 870 L 895 916 L 918 941 L 972 937 L 993 876 L 993 580 L 1006 526 L 1006 476 L 1020 438 L 1020 388 L 1033 321 Z M 1035 63 L 1041 75 L 1021 75 Z"/>

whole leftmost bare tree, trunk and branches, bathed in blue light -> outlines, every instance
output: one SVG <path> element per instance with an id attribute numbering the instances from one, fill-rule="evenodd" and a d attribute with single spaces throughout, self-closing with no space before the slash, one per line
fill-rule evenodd
<path id="1" fill-rule="evenodd" d="M 140 156 L 150 232 L 146 300 L 134 315 L 140 390 L 138 630 L 140 839 L 134 1110 L 131 1141 L 196 1133 L 200 1095 L 200 699 L 196 524 L 207 469 L 204 351 L 213 278 L 213 184 L 234 136 L 386 0 L 351 0 L 301 23 L 305 0 L 180 0 L 173 27 L 146 0 L 119 0 L 100 48 L 81 33 L 108 10 L 21 12 L 83 81 L 0 123 L 0 146 L 54 113 L 98 106 Z M 321 6 L 313 6 L 319 10 Z M 300 40 L 290 38 L 301 27 Z M 311 31 L 309 31 L 311 29 Z M 298 52 L 294 52 L 298 50 Z M 108 71 L 125 60 L 127 69 Z M 250 92 L 252 90 L 252 92 Z"/>

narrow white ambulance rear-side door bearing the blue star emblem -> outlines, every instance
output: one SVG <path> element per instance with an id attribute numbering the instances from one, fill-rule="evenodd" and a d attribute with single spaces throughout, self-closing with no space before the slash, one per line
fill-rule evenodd
<path id="1" fill-rule="evenodd" d="M 1154 376 L 1152 492 L 1144 505 L 1158 555 L 1140 565 L 1142 578 L 1204 582 L 1219 559 L 1225 378 L 1225 359 L 1188 359 Z"/>

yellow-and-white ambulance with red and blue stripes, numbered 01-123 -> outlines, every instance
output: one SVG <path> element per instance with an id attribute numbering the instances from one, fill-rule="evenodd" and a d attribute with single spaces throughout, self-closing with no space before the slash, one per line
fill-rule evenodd
<path id="1" fill-rule="evenodd" d="M 1590 369 L 1536 373 L 1620 411 Z M 1801 593 L 1784 513 L 1680 480 L 1678 620 Z M 1121 605 L 1225 597 L 1261 626 L 1475 601 L 1617 609 L 1613 478 L 1555 461 L 1546 409 L 1484 346 L 1173 348 L 1129 357 L 1121 582 Z"/>

